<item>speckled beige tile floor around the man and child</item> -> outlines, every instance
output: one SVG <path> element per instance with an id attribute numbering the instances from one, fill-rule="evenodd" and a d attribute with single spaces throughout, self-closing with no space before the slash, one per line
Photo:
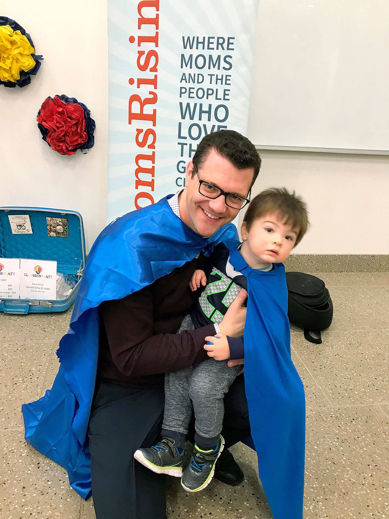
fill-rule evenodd
<path id="1" fill-rule="evenodd" d="M 304 519 L 389 519 L 389 273 L 322 277 L 334 302 L 323 344 L 291 329 L 293 359 L 307 395 Z M 93 519 L 93 502 L 68 486 L 65 471 L 27 445 L 20 406 L 51 387 L 55 350 L 71 312 L 0 313 L 0 517 Z M 213 481 L 187 495 L 168 480 L 169 519 L 270 519 L 256 455 L 232 449 L 245 473 L 239 487 Z M 287 518 L 285 518 L 287 519 Z"/>

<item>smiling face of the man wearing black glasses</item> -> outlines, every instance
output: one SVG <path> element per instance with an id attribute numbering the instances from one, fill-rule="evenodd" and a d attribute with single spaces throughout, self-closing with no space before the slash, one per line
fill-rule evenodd
<path id="1" fill-rule="evenodd" d="M 238 169 L 214 149 L 199 166 L 201 180 L 223 189 L 226 193 L 247 198 L 254 168 Z M 179 195 L 181 220 L 200 236 L 211 236 L 223 225 L 232 222 L 239 213 L 238 209 L 226 206 L 223 195 L 211 199 L 199 193 L 197 175 L 192 176 L 193 162 L 186 168 L 185 189 Z"/>

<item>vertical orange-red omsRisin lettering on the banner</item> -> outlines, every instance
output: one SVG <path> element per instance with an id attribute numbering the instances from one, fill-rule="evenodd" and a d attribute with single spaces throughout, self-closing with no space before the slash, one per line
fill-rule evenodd
<path id="1" fill-rule="evenodd" d="M 138 11 L 138 31 L 141 31 L 146 25 L 146 31 L 152 31 L 155 27 L 155 34 L 138 34 L 137 35 L 137 70 L 146 73 L 142 77 L 136 78 L 136 89 L 138 93 L 130 95 L 128 102 L 128 124 L 132 125 L 133 121 L 143 121 L 145 125 L 157 125 L 157 107 L 151 109 L 148 105 L 156 104 L 158 101 L 157 85 L 158 85 L 158 30 L 159 30 L 159 0 L 141 0 L 137 5 Z M 151 26 L 151 30 L 150 30 Z M 131 44 L 135 43 L 135 36 L 129 37 Z M 148 47 L 148 48 L 147 48 Z M 147 75 L 150 73 L 150 75 Z M 146 76 L 146 77 L 145 77 Z M 129 84 L 134 85 L 135 79 L 130 78 Z M 153 88 L 154 90 L 149 90 Z M 139 126 L 140 123 L 137 123 Z M 140 151 L 142 148 L 155 149 L 157 142 L 157 134 L 152 128 L 136 128 L 135 143 Z M 140 161 L 147 161 L 149 167 L 140 166 Z M 155 174 L 155 152 L 150 155 L 139 153 L 135 157 L 134 176 L 135 190 L 140 188 L 154 191 L 154 174 Z M 148 205 L 147 202 L 154 203 L 151 193 L 144 190 L 136 193 L 135 207 L 141 209 Z"/>

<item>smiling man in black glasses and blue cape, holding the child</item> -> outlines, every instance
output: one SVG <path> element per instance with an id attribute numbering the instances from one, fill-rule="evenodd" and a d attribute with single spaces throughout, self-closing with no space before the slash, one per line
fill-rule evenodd
<path id="1" fill-rule="evenodd" d="M 222 130 L 207 135 L 201 141 L 193 161 L 196 162 L 201 180 L 218 187 L 220 195 L 210 199 L 201 194 L 193 162 L 189 161 L 185 188 L 178 196 L 168 199 L 168 202 L 162 200 L 150 210 L 140 210 L 135 216 L 130 213 L 130 220 L 126 220 L 127 215 L 124 216 L 126 228 L 121 230 L 120 236 L 114 234 L 118 225 L 121 225 L 120 219 L 119 223 L 111 224 L 112 231 L 108 226 L 91 250 L 91 260 L 88 258 L 89 265 L 82 278 L 88 288 L 82 291 L 80 287 L 71 331 L 60 344 L 58 355 L 64 366 L 64 383 L 61 386 L 66 385 L 66 391 L 71 388 L 78 402 L 74 405 L 74 418 L 72 415 L 71 442 L 76 436 L 82 445 L 84 426 L 80 424 L 87 416 L 88 404 L 84 404 L 89 397 L 85 397 L 85 391 L 78 390 L 78 386 L 84 384 L 79 362 L 89 352 L 80 353 L 77 348 L 84 347 L 86 338 L 89 340 L 95 333 L 93 330 L 99 320 L 88 316 L 96 316 L 93 311 L 99 309 L 99 357 L 88 428 L 92 492 L 97 519 L 165 517 L 163 476 L 134 461 L 133 454 L 141 446 L 151 446 L 158 438 L 163 417 L 164 373 L 204 360 L 204 338 L 218 332 L 217 325 L 216 328 L 210 325 L 176 335 L 181 321 L 196 303 L 189 290 L 189 281 L 193 271 L 200 265 L 201 259 L 197 253 L 212 249 L 216 242 L 221 241 L 223 233 L 230 233 L 229 237 L 232 237 L 236 232 L 231 232 L 229 226 L 225 227 L 239 212 L 226 205 L 226 196 L 232 193 L 243 198 L 249 197 L 259 172 L 260 158 L 248 139 L 237 132 Z M 154 229 L 152 233 L 155 233 L 151 241 L 148 236 L 150 226 Z M 127 244 L 132 241 L 136 242 L 132 244 L 136 262 L 123 262 L 121 256 L 127 254 Z M 168 241 L 169 246 L 166 245 Z M 126 245 L 124 249 L 123 243 Z M 110 257 L 117 254 L 118 262 L 113 260 L 113 265 L 102 275 L 99 270 L 104 266 L 106 254 Z M 158 261 L 159 255 L 161 262 Z M 149 259 L 151 256 L 154 258 L 152 261 Z M 136 272 L 131 280 L 131 283 L 134 282 L 128 284 L 129 288 L 122 289 L 121 280 L 123 285 L 127 283 L 126 268 Z M 112 271 L 115 271 L 113 277 Z M 147 281 L 144 282 L 143 278 L 147 278 Z M 245 291 L 239 294 L 220 323 L 220 329 L 227 335 L 243 334 L 245 308 L 242 304 L 246 295 Z M 77 334 L 83 338 L 75 340 Z M 237 364 L 239 361 L 230 362 Z M 73 378 L 77 378 L 76 384 L 73 384 Z M 55 387 L 59 385 L 59 382 L 57 385 L 54 383 L 49 399 L 55 399 L 54 393 L 61 394 L 61 390 Z M 58 413 L 63 406 L 62 401 L 67 402 L 72 396 L 58 398 L 54 405 L 49 406 L 50 411 L 47 410 L 47 402 L 40 404 L 43 407 L 43 418 Z M 86 447 L 82 446 L 81 450 L 77 447 L 76 454 L 72 452 L 72 455 L 66 456 L 72 459 L 71 463 L 64 460 L 63 455 L 58 455 L 62 442 L 65 443 L 63 449 L 67 448 L 68 440 L 64 441 L 62 436 L 66 438 L 68 429 L 62 436 L 56 432 L 55 439 L 51 438 L 50 443 L 44 440 L 45 434 L 41 432 L 44 424 L 41 422 L 45 420 L 41 418 L 38 423 L 31 420 L 29 424 L 26 419 L 27 411 L 38 415 L 36 409 L 32 408 L 38 402 L 29 404 L 30 407 L 24 406 L 23 409 L 27 441 L 65 466 L 72 486 L 83 497 L 88 496 L 85 489 L 88 484 L 87 470 L 84 470 L 88 460 Z M 83 407 L 84 418 L 81 419 L 78 415 L 81 415 Z M 237 377 L 226 395 L 225 423 L 228 426 L 222 434 L 227 448 L 249 434 L 243 377 Z M 71 477 L 74 466 L 78 470 Z M 85 477 L 80 477 L 83 470 Z M 220 473 L 223 477 L 223 471 Z"/>

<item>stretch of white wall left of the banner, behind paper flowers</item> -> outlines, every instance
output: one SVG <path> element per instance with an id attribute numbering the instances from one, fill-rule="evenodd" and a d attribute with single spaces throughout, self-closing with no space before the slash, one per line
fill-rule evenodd
<path id="1" fill-rule="evenodd" d="M 30 85 L 0 86 L 0 206 L 78 211 L 89 250 L 106 215 L 106 1 L 19 0 L 3 4 L 1 13 L 30 33 L 44 60 Z M 91 111 L 96 130 L 88 154 L 63 156 L 41 140 L 36 115 L 46 97 L 55 94 L 75 97 Z"/>

